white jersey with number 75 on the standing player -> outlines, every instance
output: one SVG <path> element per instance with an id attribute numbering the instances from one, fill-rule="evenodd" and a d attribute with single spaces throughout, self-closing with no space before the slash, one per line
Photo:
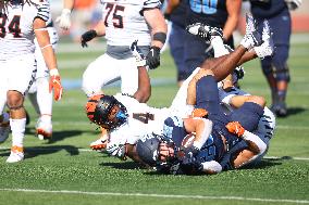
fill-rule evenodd
<path id="1" fill-rule="evenodd" d="M 101 0 L 101 3 L 108 44 L 131 46 L 136 39 L 139 46 L 150 44 L 150 29 L 143 11 L 159 8 L 159 0 Z"/>

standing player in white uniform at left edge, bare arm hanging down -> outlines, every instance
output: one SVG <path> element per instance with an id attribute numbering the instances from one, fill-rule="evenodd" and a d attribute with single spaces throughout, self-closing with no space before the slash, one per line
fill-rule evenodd
<path id="1" fill-rule="evenodd" d="M 46 28 L 50 15 L 49 2 L 44 0 L 0 1 L 0 9 L 2 20 L 0 84 L 1 95 L 7 94 L 7 99 L 1 99 L 4 101 L 0 103 L 0 113 L 3 113 L 7 101 L 12 130 L 12 149 L 7 162 L 16 163 L 24 159 L 23 139 L 26 126 L 24 97 L 37 72 L 35 37 L 49 68 L 49 91 L 53 90 L 57 101 L 61 99 L 62 86 L 57 68 L 57 59 Z"/>

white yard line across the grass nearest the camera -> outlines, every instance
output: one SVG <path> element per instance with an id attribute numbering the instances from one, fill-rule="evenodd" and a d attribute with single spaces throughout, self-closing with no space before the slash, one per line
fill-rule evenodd
<path id="1" fill-rule="evenodd" d="M 172 195 L 172 194 L 146 194 L 146 193 L 120 193 L 120 192 L 83 192 L 70 190 L 28 190 L 28 189 L 0 189 L 9 192 L 34 192 L 34 193 L 61 193 L 61 194 L 84 194 L 84 195 L 110 195 L 110 196 L 136 196 L 136 197 L 161 197 L 161 198 L 194 198 L 194 200 L 233 200 L 233 201 L 251 201 L 251 202 L 276 202 L 276 203 L 295 203 L 309 204 L 307 200 L 276 200 L 276 198 L 258 198 L 242 196 L 207 196 L 207 195 Z"/>

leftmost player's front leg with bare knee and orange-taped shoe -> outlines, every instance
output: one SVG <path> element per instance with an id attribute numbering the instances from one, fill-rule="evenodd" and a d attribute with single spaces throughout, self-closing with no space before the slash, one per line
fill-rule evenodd
<path id="1" fill-rule="evenodd" d="M 10 72 L 8 80 L 8 106 L 11 117 L 12 149 L 7 162 L 16 163 L 24 159 L 23 141 L 26 128 L 24 95 L 35 77 L 34 55 L 28 54 L 14 59 L 8 65 L 8 71 Z"/>

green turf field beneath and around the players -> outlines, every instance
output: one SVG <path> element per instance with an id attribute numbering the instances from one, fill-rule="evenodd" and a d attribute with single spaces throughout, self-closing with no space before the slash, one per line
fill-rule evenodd
<path id="1" fill-rule="evenodd" d="M 306 36 L 308 39 L 309 36 Z M 66 51 L 67 48 L 70 51 Z M 72 87 L 86 65 L 100 55 L 99 49 L 79 46 L 59 48 L 63 84 Z M 65 49 L 66 48 L 66 49 Z M 7 164 L 11 138 L 0 144 L 0 204 L 309 204 L 309 41 L 295 42 L 291 51 L 292 82 L 288 117 L 279 118 L 267 158 L 256 169 L 217 176 L 162 176 L 139 169 L 132 161 L 121 162 L 90 151 L 97 127 L 85 113 L 86 98 L 76 86 L 64 90 L 54 103 L 53 138 L 49 143 L 35 137 L 36 114 L 25 138 L 25 161 Z M 259 62 L 245 65 L 242 87 L 270 99 Z M 168 106 L 177 87 L 169 52 L 162 66 L 150 71 L 153 80 L 150 104 Z M 114 93 L 118 87 L 108 89 Z"/>

